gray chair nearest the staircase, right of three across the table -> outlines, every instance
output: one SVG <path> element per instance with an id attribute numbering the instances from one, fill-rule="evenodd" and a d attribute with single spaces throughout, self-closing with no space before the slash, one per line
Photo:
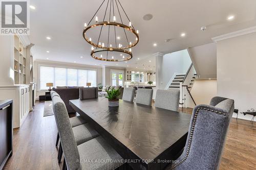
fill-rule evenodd
<path id="1" fill-rule="evenodd" d="M 179 90 L 157 90 L 155 107 L 178 111 L 180 100 Z"/>

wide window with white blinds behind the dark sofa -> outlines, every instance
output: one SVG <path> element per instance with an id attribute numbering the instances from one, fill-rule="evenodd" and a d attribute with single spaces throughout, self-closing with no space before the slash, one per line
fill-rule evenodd
<path id="1" fill-rule="evenodd" d="M 40 66 L 40 89 L 46 90 L 46 83 L 56 86 L 84 86 L 92 83 L 96 87 L 96 70 Z"/>

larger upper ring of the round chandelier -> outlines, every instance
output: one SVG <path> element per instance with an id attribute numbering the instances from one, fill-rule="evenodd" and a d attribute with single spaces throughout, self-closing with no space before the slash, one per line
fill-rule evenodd
<path id="1" fill-rule="evenodd" d="M 126 26 L 126 25 L 124 25 L 122 23 L 118 23 L 118 22 L 102 21 L 102 22 L 95 22 L 93 25 L 85 27 L 84 30 L 83 30 L 83 33 L 82 33 L 82 36 L 83 36 L 84 40 L 86 40 L 89 44 L 91 44 L 91 45 L 93 45 L 95 47 L 103 48 L 103 49 L 109 48 L 109 47 L 103 47 L 102 45 L 97 45 L 96 43 L 90 41 L 90 39 L 88 37 L 86 37 L 86 32 L 89 29 L 91 29 L 93 27 L 97 27 L 97 26 L 121 27 L 121 28 L 124 28 L 124 29 L 132 32 L 136 36 L 136 41 L 134 43 L 129 44 L 128 46 L 124 46 L 124 47 L 112 47 L 115 50 L 124 50 L 124 49 L 127 49 L 127 48 L 131 48 L 131 47 L 135 46 L 139 42 L 139 34 L 132 27 Z"/>

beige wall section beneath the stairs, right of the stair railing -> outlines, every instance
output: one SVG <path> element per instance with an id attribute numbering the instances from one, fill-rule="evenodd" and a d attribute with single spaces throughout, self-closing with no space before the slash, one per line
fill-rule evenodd
<path id="1" fill-rule="evenodd" d="M 197 105 L 208 105 L 217 96 L 217 80 L 195 80 L 190 93 Z"/>

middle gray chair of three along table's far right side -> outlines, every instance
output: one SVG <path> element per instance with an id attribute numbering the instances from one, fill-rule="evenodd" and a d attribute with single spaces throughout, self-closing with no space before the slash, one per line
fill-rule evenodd
<path id="1" fill-rule="evenodd" d="M 135 102 L 143 105 L 152 105 L 153 89 L 139 88 Z"/>

